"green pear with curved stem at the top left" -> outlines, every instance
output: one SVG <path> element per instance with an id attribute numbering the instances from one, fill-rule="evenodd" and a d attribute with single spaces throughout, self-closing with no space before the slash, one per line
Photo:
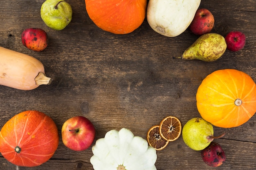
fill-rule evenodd
<path id="1" fill-rule="evenodd" d="M 41 18 L 50 28 L 62 30 L 72 20 L 72 8 L 64 0 L 46 0 L 41 7 Z"/>

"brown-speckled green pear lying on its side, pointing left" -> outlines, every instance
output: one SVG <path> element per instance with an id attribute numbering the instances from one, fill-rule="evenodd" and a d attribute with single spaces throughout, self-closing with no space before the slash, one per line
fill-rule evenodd
<path id="1" fill-rule="evenodd" d="M 227 49 L 225 38 L 217 33 L 201 35 L 182 54 L 184 60 L 202 60 L 213 62 L 220 58 Z"/>

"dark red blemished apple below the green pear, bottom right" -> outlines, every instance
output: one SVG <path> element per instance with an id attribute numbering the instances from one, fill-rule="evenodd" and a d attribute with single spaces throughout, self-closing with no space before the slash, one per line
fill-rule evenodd
<path id="1" fill-rule="evenodd" d="M 209 146 L 201 150 L 201 157 L 207 165 L 212 167 L 220 166 L 226 160 L 224 150 L 216 142 L 211 142 Z"/>

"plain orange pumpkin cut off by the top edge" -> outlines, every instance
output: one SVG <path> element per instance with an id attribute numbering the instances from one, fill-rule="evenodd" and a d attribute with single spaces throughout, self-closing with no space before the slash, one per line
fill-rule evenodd
<path id="1" fill-rule="evenodd" d="M 146 17 L 147 0 L 85 0 L 87 13 L 101 29 L 127 34 L 137 29 Z"/>

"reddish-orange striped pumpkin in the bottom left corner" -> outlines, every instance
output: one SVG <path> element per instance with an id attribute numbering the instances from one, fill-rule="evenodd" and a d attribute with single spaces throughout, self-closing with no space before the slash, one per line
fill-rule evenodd
<path id="1" fill-rule="evenodd" d="M 17 166 L 48 161 L 58 147 L 58 128 L 44 113 L 27 110 L 12 117 L 0 131 L 0 152 Z"/>

